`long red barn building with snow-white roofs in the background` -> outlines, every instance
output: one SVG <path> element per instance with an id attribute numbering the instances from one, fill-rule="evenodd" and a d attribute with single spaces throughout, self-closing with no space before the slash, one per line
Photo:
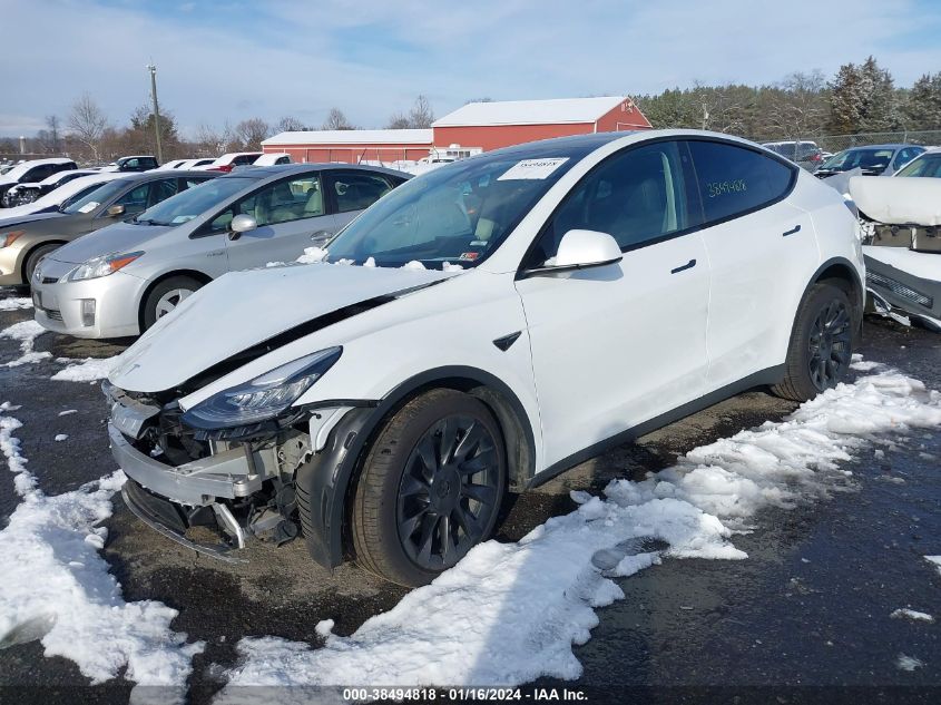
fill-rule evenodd
<path id="1" fill-rule="evenodd" d="M 469 102 L 431 129 L 312 130 L 282 133 L 262 143 L 294 161 L 416 161 L 434 148 L 460 146 L 472 153 L 550 137 L 650 129 L 630 98 L 562 98 Z"/>

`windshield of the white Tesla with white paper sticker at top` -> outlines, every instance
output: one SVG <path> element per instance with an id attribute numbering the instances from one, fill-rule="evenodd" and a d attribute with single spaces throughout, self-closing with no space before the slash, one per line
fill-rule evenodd
<path id="1" fill-rule="evenodd" d="M 418 261 L 472 267 L 483 262 L 536 202 L 598 147 L 597 140 L 545 143 L 454 161 L 405 182 L 327 246 L 331 262 L 396 267 Z"/>

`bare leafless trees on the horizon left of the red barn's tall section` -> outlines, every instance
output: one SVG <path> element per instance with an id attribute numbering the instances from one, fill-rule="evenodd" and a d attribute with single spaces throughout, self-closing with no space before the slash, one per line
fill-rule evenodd
<path id="1" fill-rule="evenodd" d="M 390 116 L 389 128 L 431 127 L 434 111 L 425 96 L 419 96 L 408 112 Z M 100 164 L 130 154 L 156 154 L 156 116 L 149 105 L 136 108 L 125 125 L 114 125 L 90 94 L 82 94 L 71 105 L 62 120 L 57 115 L 46 117 L 45 127 L 26 139 L 26 153 L 33 155 L 68 154 L 87 164 Z M 241 120 L 235 125 L 200 125 L 193 138 L 179 134 L 171 110 L 160 109 L 160 147 L 165 161 L 184 157 L 217 156 L 227 151 L 261 150 L 262 140 L 284 131 L 308 129 L 359 129 L 340 108 L 331 108 L 322 125 L 308 126 L 294 116 L 276 123 L 261 117 Z M 19 140 L 0 138 L 0 154 L 20 151 Z"/>

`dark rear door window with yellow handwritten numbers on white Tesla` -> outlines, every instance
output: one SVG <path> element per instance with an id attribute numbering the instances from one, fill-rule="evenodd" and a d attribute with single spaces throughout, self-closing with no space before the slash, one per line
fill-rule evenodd
<path id="1" fill-rule="evenodd" d="M 689 141 L 706 223 L 744 215 L 783 198 L 794 168 L 746 147 Z"/>

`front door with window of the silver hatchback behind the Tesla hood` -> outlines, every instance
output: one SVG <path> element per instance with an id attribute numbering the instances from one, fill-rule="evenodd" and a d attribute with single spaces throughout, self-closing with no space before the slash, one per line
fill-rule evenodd
<path id="1" fill-rule="evenodd" d="M 307 172 L 262 186 L 233 206 L 232 216 L 247 214 L 257 227 L 226 241 L 231 270 L 293 262 L 306 247 L 336 232 L 326 212 L 320 172 Z"/>

